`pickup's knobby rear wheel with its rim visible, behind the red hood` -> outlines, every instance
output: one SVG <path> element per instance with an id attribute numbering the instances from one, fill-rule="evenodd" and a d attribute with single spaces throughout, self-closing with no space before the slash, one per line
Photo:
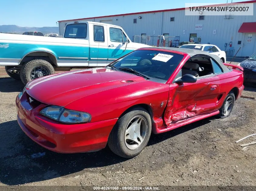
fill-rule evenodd
<path id="1" fill-rule="evenodd" d="M 23 84 L 27 84 L 36 78 L 54 74 L 53 66 L 44 59 L 35 59 L 25 63 L 20 72 Z"/>

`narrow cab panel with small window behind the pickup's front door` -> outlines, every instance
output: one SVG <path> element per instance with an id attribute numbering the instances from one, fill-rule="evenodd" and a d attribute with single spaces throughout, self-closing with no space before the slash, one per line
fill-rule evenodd
<path id="1" fill-rule="evenodd" d="M 107 27 L 102 24 L 91 26 L 89 66 L 106 66 L 108 61 Z"/>

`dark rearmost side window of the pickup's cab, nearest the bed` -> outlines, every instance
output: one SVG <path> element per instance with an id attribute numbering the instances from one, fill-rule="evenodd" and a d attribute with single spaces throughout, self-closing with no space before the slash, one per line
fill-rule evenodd
<path id="1" fill-rule="evenodd" d="M 86 38 L 87 24 L 76 23 L 66 25 L 64 38 Z"/>

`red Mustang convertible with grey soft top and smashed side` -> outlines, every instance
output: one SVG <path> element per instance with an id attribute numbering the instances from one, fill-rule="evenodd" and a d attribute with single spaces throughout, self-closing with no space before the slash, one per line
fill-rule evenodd
<path id="1" fill-rule="evenodd" d="M 243 68 L 225 65 L 200 50 L 141 48 L 105 68 L 29 82 L 16 98 L 18 123 L 51 151 L 89 152 L 108 144 L 131 158 L 151 132 L 229 116 L 244 89 Z"/>

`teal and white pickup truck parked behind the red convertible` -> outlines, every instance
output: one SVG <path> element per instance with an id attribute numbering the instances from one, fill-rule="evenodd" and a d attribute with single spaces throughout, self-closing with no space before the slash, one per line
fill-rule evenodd
<path id="1" fill-rule="evenodd" d="M 145 46 L 131 42 L 122 27 L 79 21 L 66 25 L 63 38 L 0 33 L 0 65 L 26 84 L 55 71 L 106 66 Z"/>

